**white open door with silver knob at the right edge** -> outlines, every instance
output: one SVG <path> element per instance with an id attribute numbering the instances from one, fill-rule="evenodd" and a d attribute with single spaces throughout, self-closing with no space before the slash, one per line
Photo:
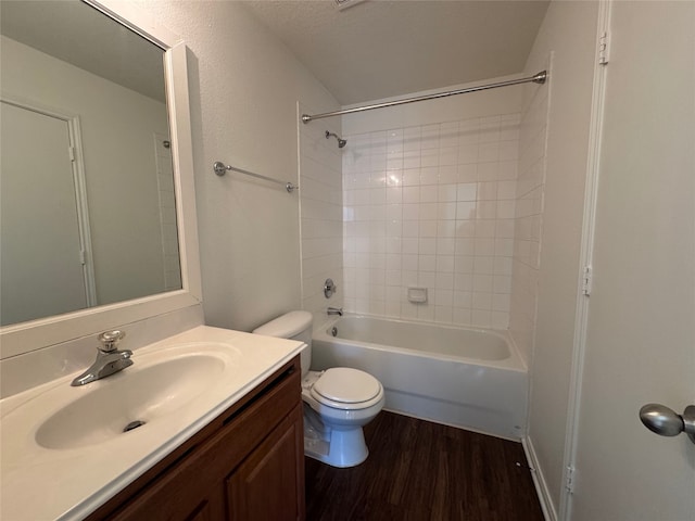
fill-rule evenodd
<path id="1" fill-rule="evenodd" d="M 695 519 L 695 2 L 612 4 L 572 521 Z"/>

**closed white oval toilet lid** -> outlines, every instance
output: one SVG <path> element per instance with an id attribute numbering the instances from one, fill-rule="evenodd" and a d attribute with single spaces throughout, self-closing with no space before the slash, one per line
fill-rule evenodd
<path id="1" fill-rule="evenodd" d="M 312 387 L 312 394 L 339 402 L 357 404 L 367 402 L 379 394 L 381 384 L 371 374 L 348 367 L 327 369 Z"/>

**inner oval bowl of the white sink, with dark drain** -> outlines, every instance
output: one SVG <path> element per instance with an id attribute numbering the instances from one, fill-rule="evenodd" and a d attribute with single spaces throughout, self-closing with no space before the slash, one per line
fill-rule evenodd
<path id="1" fill-rule="evenodd" d="M 84 447 L 147 428 L 214 384 L 225 361 L 191 353 L 147 366 L 136 363 L 54 412 L 36 431 L 36 442 L 46 448 Z"/>

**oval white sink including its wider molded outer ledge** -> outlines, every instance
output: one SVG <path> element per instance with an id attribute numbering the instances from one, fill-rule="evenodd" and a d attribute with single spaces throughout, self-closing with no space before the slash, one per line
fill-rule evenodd
<path id="1" fill-rule="evenodd" d="M 65 450 L 165 429 L 164 420 L 232 380 L 239 357 L 239 350 L 214 342 L 136 352 L 119 372 L 79 387 L 53 385 L 3 415 L 3 434 L 23 431 L 26 445 Z M 124 432 L 131 422 L 142 423 Z"/>

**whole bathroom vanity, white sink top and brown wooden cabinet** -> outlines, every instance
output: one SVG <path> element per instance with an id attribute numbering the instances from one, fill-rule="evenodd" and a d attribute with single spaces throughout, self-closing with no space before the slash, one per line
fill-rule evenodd
<path id="1" fill-rule="evenodd" d="M 0 401 L 0 519 L 303 519 L 304 348 L 199 326 Z"/>

